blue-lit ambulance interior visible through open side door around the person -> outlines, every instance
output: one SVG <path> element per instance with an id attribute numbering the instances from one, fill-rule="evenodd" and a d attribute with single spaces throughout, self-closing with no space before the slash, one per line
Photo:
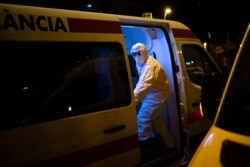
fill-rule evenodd
<path id="1" fill-rule="evenodd" d="M 176 107 L 178 105 L 176 101 L 176 94 L 177 94 L 175 89 L 176 84 L 174 83 L 175 72 L 173 71 L 174 61 L 173 57 L 171 57 L 169 40 L 166 39 L 164 31 L 157 27 L 122 26 L 122 32 L 124 34 L 124 41 L 126 44 L 127 55 L 130 55 L 131 47 L 135 43 L 137 42 L 144 43 L 145 46 L 147 47 L 149 55 L 157 59 L 165 70 L 170 85 L 170 97 L 166 103 L 164 111 L 162 112 L 162 116 L 164 117 L 167 129 L 172 135 L 175 148 L 174 149 L 175 151 L 172 150 L 173 152 L 175 152 L 174 154 L 170 154 L 169 152 L 167 152 L 166 154 L 170 156 L 170 158 L 176 156 L 176 154 L 178 154 L 176 152 L 180 152 L 181 148 L 183 148 L 182 146 L 183 141 L 180 137 L 183 135 L 180 135 L 181 127 L 180 127 L 179 115 L 177 112 L 178 109 Z M 130 66 L 132 68 L 136 68 L 135 65 L 130 64 Z M 133 84 L 135 86 L 138 80 L 138 76 L 134 75 L 135 74 L 133 72 L 134 70 L 136 69 L 131 69 L 134 82 Z M 157 148 L 161 149 L 161 147 L 159 146 L 161 143 L 158 142 L 158 144 L 156 144 L 158 141 L 157 138 L 150 139 L 148 141 L 149 142 L 148 143 L 145 142 L 145 144 L 141 142 L 142 157 L 145 150 L 147 150 L 145 152 L 150 152 L 148 151 L 149 149 L 148 147 L 150 146 L 152 146 L 152 150 L 155 150 Z M 147 156 L 145 157 L 147 158 Z"/>

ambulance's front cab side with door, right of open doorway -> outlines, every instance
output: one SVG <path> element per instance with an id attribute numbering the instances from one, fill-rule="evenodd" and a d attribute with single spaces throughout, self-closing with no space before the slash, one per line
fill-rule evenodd
<path id="1" fill-rule="evenodd" d="M 182 120 L 185 121 L 189 137 L 193 137 L 206 132 L 212 124 L 212 121 L 204 119 L 200 111 L 200 78 L 204 73 L 220 73 L 220 69 L 204 49 L 201 41 L 187 26 L 176 21 L 169 22 L 178 51 L 176 64 L 180 69 L 178 72 L 180 106 L 186 116 Z"/>

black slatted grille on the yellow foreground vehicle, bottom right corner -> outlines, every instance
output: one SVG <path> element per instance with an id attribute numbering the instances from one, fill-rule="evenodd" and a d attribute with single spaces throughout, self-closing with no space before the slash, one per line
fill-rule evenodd
<path id="1" fill-rule="evenodd" d="M 225 167 L 250 167 L 250 146 L 225 140 L 222 143 L 220 161 Z"/>

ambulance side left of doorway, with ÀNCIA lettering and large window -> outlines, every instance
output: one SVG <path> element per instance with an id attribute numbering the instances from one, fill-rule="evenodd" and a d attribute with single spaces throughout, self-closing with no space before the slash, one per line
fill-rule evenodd
<path id="1" fill-rule="evenodd" d="M 3 103 L 11 105 L 1 111 L 0 166 L 140 164 L 118 19 L 7 4 L 0 12 L 0 50 L 11 64 L 3 81 Z"/>

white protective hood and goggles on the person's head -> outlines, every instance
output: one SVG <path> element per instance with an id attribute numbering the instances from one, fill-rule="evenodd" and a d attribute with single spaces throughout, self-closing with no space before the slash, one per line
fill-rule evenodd
<path id="1" fill-rule="evenodd" d="M 134 54 L 138 53 L 139 54 Z M 143 43 L 136 43 L 131 48 L 131 55 L 138 65 L 143 65 L 148 58 L 147 48 Z"/>

